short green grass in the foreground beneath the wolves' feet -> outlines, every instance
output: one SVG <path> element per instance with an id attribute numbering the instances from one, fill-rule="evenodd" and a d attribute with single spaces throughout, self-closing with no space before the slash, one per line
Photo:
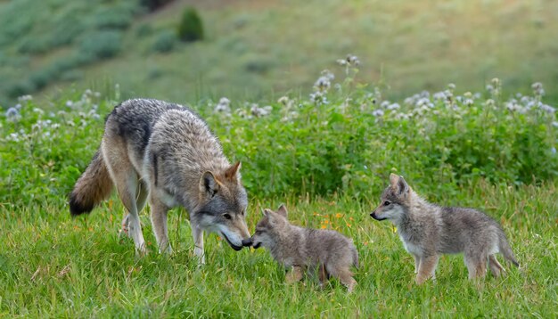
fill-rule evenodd
<path id="1" fill-rule="evenodd" d="M 480 207 L 496 217 L 521 268 L 507 266 L 504 279 L 488 277 L 477 285 L 466 279 L 462 257 L 444 257 L 438 282 L 422 287 L 414 284 L 413 258 L 397 234 L 388 223 L 368 216 L 377 199 L 365 204 L 344 196 L 251 200 L 250 229 L 261 208 L 286 202 L 292 223 L 319 228 L 328 219 L 329 227 L 352 237 L 361 267 L 355 276 L 357 289 L 350 295 L 335 281 L 324 290 L 311 280 L 287 285 L 283 269 L 267 251 L 234 252 L 215 235 L 206 237 L 207 265 L 198 267 L 185 213 L 177 209 L 169 214 L 174 255 L 136 258 L 133 242 L 119 241 L 117 235 L 123 210 L 116 197 L 90 216 L 75 219 L 62 198 L 16 211 L 3 207 L 0 314 L 550 318 L 558 315 L 555 193 L 555 184 L 513 188 L 481 183 L 460 190 L 447 203 Z M 142 221 L 153 251 L 146 214 Z"/>

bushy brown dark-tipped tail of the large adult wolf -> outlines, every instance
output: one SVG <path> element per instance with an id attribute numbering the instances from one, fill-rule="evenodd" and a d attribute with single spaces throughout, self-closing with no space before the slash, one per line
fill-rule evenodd
<path id="1" fill-rule="evenodd" d="M 111 175 L 99 149 L 70 193 L 71 216 L 89 213 L 95 205 L 108 198 L 111 191 Z"/>

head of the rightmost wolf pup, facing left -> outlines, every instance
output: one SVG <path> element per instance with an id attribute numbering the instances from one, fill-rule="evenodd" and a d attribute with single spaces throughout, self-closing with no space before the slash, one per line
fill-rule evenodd
<path id="1" fill-rule="evenodd" d="M 376 220 L 390 219 L 398 223 L 410 206 L 411 187 L 406 184 L 403 176 L 390 174 L 390 186 L 382 192 L 382 201 L 378 208 L 370 214 Z"/>

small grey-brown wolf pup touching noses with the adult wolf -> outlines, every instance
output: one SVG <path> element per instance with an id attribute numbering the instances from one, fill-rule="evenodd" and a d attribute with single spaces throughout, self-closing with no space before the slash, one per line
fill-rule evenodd
<path id="1" fill-rule="evenodd" d="M 357 284 L 350 271 L 351 265 L 358 266 L 358 253 L 353 242 L 332 230 L 291 225 L 283 205 L 276 212 L 264 210 L 251 243 L 255 249 L 259 246 L 269 249 L 278 263 L 292 268 L 285 278 L 289 283 L 300 281 L 306 270 L 317 269 L 320 285 L 330 275 L 339 278 L 349 292 Z"/>

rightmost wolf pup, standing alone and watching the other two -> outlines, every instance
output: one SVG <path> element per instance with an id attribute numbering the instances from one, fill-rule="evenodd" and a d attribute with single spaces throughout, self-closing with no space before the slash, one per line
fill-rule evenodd
<path id="1" fill-rule="evenodd" d="M 519 266 L 504 231 L 494 219 L 476 209 L 442 208 L 428 203 L 406 184 L 403 176 L 390 175 L 382 203 L 370 216 L 389 219 L 397 226 L 403 246 L 414 256 L 418 284 L 435 278 L 440 254 L 464 252 L 469 279 L 483 277 L 487 262 L 495 277 L 505 272 L 496 260 L 497 252 Z"/>

